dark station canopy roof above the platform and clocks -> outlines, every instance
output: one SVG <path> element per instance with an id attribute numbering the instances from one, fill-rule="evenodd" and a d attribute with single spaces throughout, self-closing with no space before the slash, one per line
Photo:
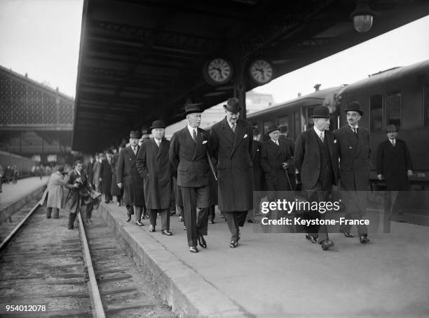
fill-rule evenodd
<path id="1" fill-rule="evenodd" d="M 349 18 L 355 0 L 85 0 L 72 148 L 95 152 L 155 119 L 175 123 L 189 100 L 217 105 L 240 74 L 248 91 L 256 58 L 280 77 L 429 13 L 425 0 L 369 5 L 374 23 L 360 34 Z M 236 75 L 214 86 L 203 66 L 217 57 Z"/>

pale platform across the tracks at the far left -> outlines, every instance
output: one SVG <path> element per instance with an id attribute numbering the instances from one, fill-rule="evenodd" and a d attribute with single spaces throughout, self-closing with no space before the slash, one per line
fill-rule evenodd
<path id="1" fill-rule="evenodd" d="M 27 196 L 27 194 L 34 192 L 34 190 L 38 189 L 42 185 L 46 185 L 48 178 L 48 176 L 42 178 L 30 177 L 18 180 L 16 185 L 13 183 L 3 184 L 3 192 L 0 193 L 0 210 Z"/>

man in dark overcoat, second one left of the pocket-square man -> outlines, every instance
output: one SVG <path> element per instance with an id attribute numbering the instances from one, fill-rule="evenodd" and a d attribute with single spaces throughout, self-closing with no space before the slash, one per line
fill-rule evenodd
<path id="1" fill-rule="evenodd" d="M 123 187 L 123 203 L 127 208 L 126 221 L 129 222 L 131 215 L 135 213 L 135 223 L 142 226 L 140 218 L 144 208 L 144 187 L 143 178 L 139 175 L 135 163 L 139 137 L 139 131 L 130 132 L 130 145 L 119 153 L 116 178 L 118 187 Z"/>

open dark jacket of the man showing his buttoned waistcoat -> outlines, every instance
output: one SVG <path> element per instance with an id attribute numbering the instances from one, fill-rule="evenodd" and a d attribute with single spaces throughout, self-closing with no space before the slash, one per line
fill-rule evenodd
<path id="1" fill-rule="evenodd" d="M 318 182 L 320 171 L 320 149 L 318 146 L 318 135 L 314 129 L 304 131 L 297 138 L 294 150 L 294 165 L 295 168 L 301 173 L 301 183 L 306 189 L 313 189 Z M 329 148 L 329 155 L 332 162 L 332 172 L 334 178 L 332 184 L 336 185 L 338 179 L 338 155 L 336 153 L 334 143 L 334 133 L 332 131 L 325 131 L 325 143 Z"/>

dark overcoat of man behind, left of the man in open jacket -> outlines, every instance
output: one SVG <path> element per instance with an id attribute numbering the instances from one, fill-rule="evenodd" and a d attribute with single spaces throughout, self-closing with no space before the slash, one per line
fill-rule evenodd
<path id="1" fill-rule="evenodd" d="M 292 153 L 285 140 L 278 140 L 278 143 L 279 145 L 275 145 L 271 139 L 262 143 L 261 166 L 265 173 L 266 190 L 290 191 L 292 189 L 287 181 L 287 171 L 282 168 L 282 163 L 287 162 L 292 166 Z"/>

